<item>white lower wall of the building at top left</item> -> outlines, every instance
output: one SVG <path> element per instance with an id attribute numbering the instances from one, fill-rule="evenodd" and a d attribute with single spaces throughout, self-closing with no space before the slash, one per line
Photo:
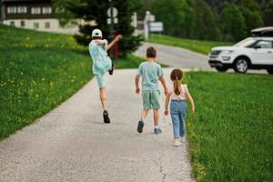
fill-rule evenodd
<path id="1" fill-rule="evenodd" d="M 21 22 L 25 22 L 25 27 L 21 26 Z M 78 26 L 77 25 L 66 25 L 66 27 L 61 27 L 57 19 L 9 19 L 4 20 L 3 24 L 11 25 L 14 22 L 16 27 L 23 27 L 27 29 L 35 29 L 38 31 L 45 31 L 45 32 L 56 32 L 62 34 L 72 34 L 75 35 L 78 33 Z M 38 28 L 35 28 L 35 23 L 39 25 Z M 50 27 L 46 28 L 45 23 L 49 23 Z"/>

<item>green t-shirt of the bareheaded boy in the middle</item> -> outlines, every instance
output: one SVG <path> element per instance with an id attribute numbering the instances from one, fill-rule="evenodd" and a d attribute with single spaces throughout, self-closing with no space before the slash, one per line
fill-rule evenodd
<path id="1" fill-rule="evenodd" d="M 142 90 L 159 90 L 158 78 L 163 76 L 162 68 L 155 62 L 143 62 L 138 67 L 137 76 L 142 76 Z"/>

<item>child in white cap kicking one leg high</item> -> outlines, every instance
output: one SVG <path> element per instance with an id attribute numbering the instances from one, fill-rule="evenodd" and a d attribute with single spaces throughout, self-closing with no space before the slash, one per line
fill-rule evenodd
<path id="1" fill-rule="evenodd" d="M 92 32 L 92 41 L 89 44 L 89 53 L 93 60 L 93 74 L 96 76 L 97 85 L 99 87 L 99 97 L 101 105 L 103 107 L 103 118 L 105 123 L 110 123 L 109 114 L 106 110 L 106 72 L 110 75 L 113 74 L 114 65 L 109 56 L 107 56 L 107 50 L 116 44 L 122 35 L 117 35 L 116 38 L 108 44 L 106 39 L 102 40 L 102 32 L 99 29 L 94 29 Z"/>

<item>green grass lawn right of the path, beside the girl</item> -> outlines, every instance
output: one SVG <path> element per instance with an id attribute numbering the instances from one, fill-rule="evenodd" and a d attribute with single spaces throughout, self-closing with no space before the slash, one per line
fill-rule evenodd
<path id="1" fill-rule="evenodd" d="M 189 72 L 187 117 L 197 181 L 272 181 L 273 76 Z M 188 109 L 190 110 L 190 109 Z"/>

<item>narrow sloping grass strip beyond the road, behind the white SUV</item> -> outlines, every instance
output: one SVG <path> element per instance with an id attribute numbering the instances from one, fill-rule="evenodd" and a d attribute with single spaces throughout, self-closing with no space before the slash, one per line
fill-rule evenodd
<path id="1" fill-rule="evenodd" d="M 214 46 L 232 45 L 232 43 L 192 40 L 192 39 L 177 38 L 174 36 L 156 35 L 156 34 L 151 34 L 150 39 L 147 42 L 158 43 L 162 45 L 180 46 L 180 47 L 187 48 L 189 50 L 192 50 L 204 55 L 207 55 L 210 52 L 210 49 Z"/>

